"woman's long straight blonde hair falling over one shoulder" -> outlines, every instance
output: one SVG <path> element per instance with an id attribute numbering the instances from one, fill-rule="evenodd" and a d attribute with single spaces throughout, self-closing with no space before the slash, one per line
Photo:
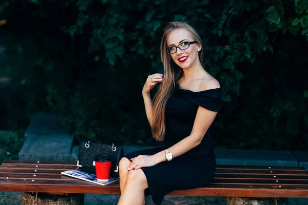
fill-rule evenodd
<path id="1" fill-rule="evenodd" d="M 164 65 L 164 80 L 153 99 L 152 106 L 152 135 L 156 140 L 162 141 L 165 137 L 165 107 L 167 100 L 171 96 L 176 82 L 183 76 L 183 70 L 179 67 L 171 56 L 167 53 L 166 49 L 168 35 L 176 29 L 186 29 L 192 35 L 192 38 L 200 45 L 202 40 L 198 32 L 185 22 L 169 22 L 164 30 L 161 41 L 161 58 Z M 203 49 L 199 52 L 200 63 L 203 67 Z"/>

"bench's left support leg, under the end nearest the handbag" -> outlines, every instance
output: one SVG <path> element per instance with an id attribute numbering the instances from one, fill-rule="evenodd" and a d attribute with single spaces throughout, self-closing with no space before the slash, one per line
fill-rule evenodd
<path id="1" fill-rule="evenodd" d="M 84 205 L 84 194 L 23 192 L 22 205 Z"/>

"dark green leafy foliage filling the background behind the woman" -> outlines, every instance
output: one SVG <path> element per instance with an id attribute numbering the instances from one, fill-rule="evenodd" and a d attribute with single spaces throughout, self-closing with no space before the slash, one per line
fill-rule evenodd
<path id="1" fill-rule="evenodd" d="M 76 141 L 152 145 L 142 86 L 147 75 L 163 72 L 164 26 L 184 20 L 198 30 L 205 68 L 223 88 L 214 145 L 304 148 L 307 84 L 301 80 L 300 93 L 281 84 L 305 76 L 293 69 L 307 60 L 297 47 L 308 36 L 306 2 L 7 1 L 0 5 L 3 65 L 12 80 L 2 102 L 10 117 L 2 120 L 26 127 L 31 113 L 58 112 Z"/>

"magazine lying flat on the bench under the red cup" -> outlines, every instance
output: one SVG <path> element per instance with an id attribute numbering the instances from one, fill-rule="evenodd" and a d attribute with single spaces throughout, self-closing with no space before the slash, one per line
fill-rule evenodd
<path id="1" fill-rule="evenodd" d="M 83 172 L 79 170 L 79 168 L 61 172 L 61 174 L 64 174 L 66 176 L 71 176 L 74 178 L 78 178 L 78 179 L 82 179 L 82 180 L 86 180 L 92 183 L 97 183 L 98 185 L 103 185 L 103 186 L 108 185 L 109 183 L 112 183 L 113 181 L 118 181 L 120 179 L 119 177 L 116 177 L 116 178 L 110 177 L 108 181 L 99 181 L 96 178 L 96 174 L 90 174 L 87 172 Z"/>

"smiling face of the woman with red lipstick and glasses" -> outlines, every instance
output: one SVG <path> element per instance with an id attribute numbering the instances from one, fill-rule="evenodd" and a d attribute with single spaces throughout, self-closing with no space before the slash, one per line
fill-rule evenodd
<path id="1" fill-rule="evenodd" d="M 186 29 L 176 29 L 167 37 L 167 48 L 179 45 L 179 47 L 183 46 L 185 48 L 185 43 L 183 44 L 183 42 L 194 42 L 194 39 Z M 190 68 L 199 61 L 198 50 L 200 50 L 201 47 L 198 43 L 190 44 L 190 46 L 185 50 L 180 50 L 179 48 L 176 49 L 177 52 L 169 55 L 181 68 Z M 172 50 L 174 52 L 175 48 Z"/>

